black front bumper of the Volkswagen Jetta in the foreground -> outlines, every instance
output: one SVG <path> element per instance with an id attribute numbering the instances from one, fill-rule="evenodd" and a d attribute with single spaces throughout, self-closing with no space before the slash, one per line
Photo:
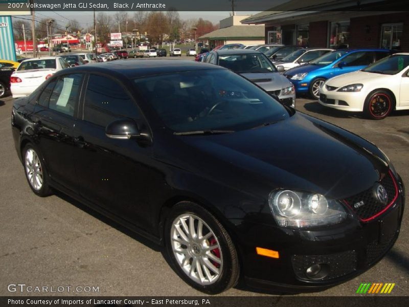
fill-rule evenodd
<path id="1" fill-rule="evenodd" d="M 403 185 L 394 204 L 376 219 L 357 217 L 331 227 L 294 230 L 248 223 L 239 236 L 245 282 L 250 287 L 285 292 L 320 291 L 345 282 L 374 266 L 394 245 L 402 221 Z M 279 252 L 279 258 L 256 253 L 256 247 Z M 320 264 L 328 274 L 313 279 L 307 268 Z"/>

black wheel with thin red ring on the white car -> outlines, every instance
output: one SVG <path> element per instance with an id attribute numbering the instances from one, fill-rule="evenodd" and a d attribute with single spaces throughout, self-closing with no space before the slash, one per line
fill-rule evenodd
<path id="1" fill-rule="evenodd" d="M 393 101 L 391 94 L 387 91 L 374 91 L 365 99 L 363 113 L 370 119 L 384 119 L 392 112 Z"/>

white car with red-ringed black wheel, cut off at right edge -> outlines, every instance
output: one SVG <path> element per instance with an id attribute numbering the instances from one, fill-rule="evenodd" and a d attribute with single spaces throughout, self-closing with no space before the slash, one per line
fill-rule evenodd
<path id="1" fill-rule="evenodd" d="M 320 88 L 319 102 L 363 112 L 371 119 L 409 109 L 409 53 L 396 53 L 360 71 L 327 80 Z"/>

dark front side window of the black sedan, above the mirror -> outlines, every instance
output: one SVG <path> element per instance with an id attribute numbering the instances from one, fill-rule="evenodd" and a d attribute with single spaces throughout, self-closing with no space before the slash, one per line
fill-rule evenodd
<path id="1" fill-rule="evenodd" d="M 89 75 L 85 92 L 84 120 L 105 127 L 118 118 L 139 119 L 138 106 L 112 79 Z"/>

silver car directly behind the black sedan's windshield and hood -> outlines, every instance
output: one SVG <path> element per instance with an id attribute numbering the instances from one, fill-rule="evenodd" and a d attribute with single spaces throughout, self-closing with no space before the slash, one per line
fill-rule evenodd
<path id="1" fill-rule="evenodd" d="M 292 83 L 261 52 L 251 49 L 217 50 L 205 62 L 228 68 L 262 87 L 288 106 L 295 106 L 296 91 Z"/>

